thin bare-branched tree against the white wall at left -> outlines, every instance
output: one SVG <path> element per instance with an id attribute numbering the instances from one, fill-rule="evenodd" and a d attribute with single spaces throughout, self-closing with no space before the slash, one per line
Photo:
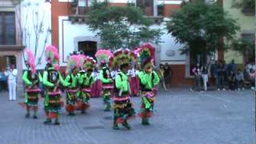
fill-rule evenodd
<path id="1" fill-rule="evenodd" d="M 50 6 L 48 6 L 50 3 L 45 0 L 37 2 L 32 0 L 13 0 L 13 2 L 16 5 L 17 13 L 15 14 L 18 18 L 18 27 L 22 35 L 22 44 L 33 51 L 34 57 L 37 58 L 36 65 L 38 66 L 42 61 L 46 43 L 51 34 L 50 24 L 46 23 L 46 14 L 50 14 Z M 22 51 L 22 55 L 25 61 L 24 51 Z"/>

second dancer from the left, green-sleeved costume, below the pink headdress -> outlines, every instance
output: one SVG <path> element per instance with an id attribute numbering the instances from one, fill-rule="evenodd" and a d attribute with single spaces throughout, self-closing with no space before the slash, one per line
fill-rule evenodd
<path id="1" fill-rule="evenodd" d="M 62 75 L 58 70 L 54 70 L 53 66 L 50 66 L 43 74 L 43 84 L 46 86 L 46 98 L 45 98 L 45 111 L 46 111 L 46 122 L 49 124 L 52 118 L 55 118 L 55 124 L 58 125 L 58 114 L 61 109 L 61 90 L 59 85 L 69 86 L 70 83 L 67 83 L 63 80 Z"/>

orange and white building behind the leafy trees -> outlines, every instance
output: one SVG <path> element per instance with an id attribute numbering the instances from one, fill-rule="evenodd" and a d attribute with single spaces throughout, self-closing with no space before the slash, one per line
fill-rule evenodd
<path id="1" fill-rule="evenodd" d="M 66 59 L 74 50 L 83 50 L 86 55 L 94 56 L 101 47 L 101 39 L 86 25 L 86 13 L 90 10 L 90 0 L 54 0 L 52 5 L 52 44 L 58 46 L 61 56 L 61 66 L 66 66 Z M 189 86 L 190 56 L 181 55 L 182 44 L 174 42 L 167 34 L 165 24 L 171 15 L 180 9 L 182 0 L 110 0 L 111 6 L 128 6 L 130 4 L 142 7 L 146 16 L 154 18 L 153 28 L 161 28 L 163 34 L 156 46 L 157 63 L 168 63 L 174 71 L 172 86 Z M 188 60 L 187 60 L 188 59 Z"/>

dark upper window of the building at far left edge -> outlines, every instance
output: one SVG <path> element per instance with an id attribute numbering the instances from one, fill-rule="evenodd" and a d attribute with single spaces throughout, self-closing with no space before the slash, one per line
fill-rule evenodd
<path id="1" fill-rule="evenodd" d="M 16 44 L 14 12 L 0 12 L 0 45 Z"/>

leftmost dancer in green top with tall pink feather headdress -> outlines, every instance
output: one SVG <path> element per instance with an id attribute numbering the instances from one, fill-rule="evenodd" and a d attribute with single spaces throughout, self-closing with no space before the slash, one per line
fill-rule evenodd
<path id="1" fill-rule="evenodd" d="M 28 59 L 26 61 L 26 70 L 22 76 L 23 82 L 26 84 L 26 118 L 30 117 L 30 109 L 34 111 L 33 118 L 38 118 L 38 99 L 40 94 L 39 82 L 42 82 L 42 76 L 37 72 L 35 66 L 34 54 L 27 50 Z"/>

